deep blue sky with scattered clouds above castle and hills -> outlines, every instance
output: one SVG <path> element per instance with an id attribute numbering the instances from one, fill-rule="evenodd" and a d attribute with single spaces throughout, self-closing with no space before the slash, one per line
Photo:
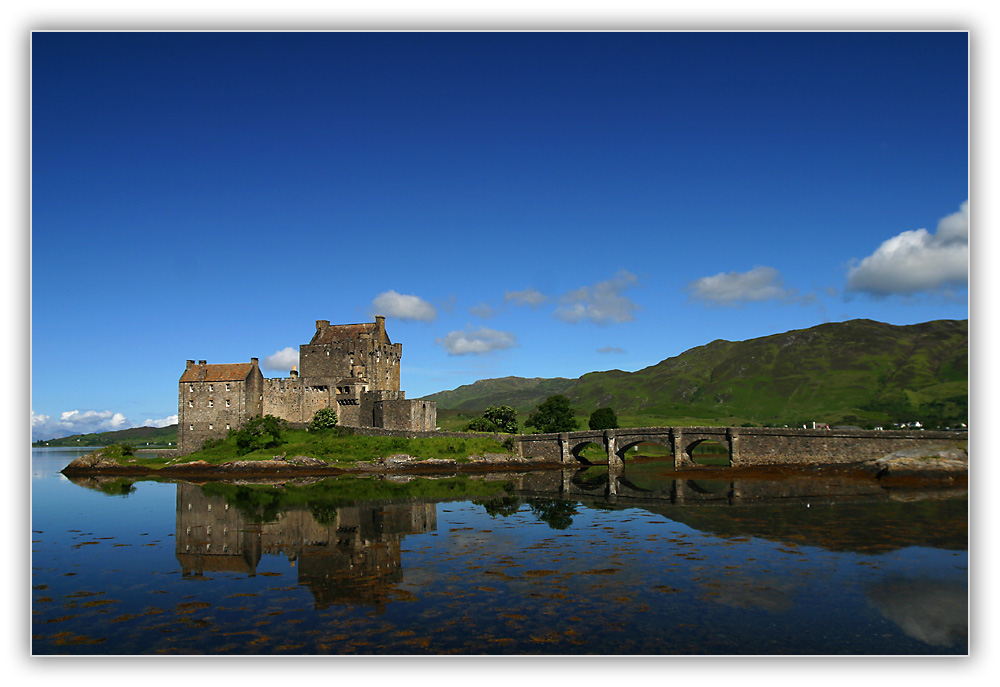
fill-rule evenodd
<path id="1" fill-rule="evenodd" d="M 968 317 L 965 33 L 34 33 L 34 438 L 387 316 L 416 398 Z M 270 364 L 274 369 L 267 369 Z"/>

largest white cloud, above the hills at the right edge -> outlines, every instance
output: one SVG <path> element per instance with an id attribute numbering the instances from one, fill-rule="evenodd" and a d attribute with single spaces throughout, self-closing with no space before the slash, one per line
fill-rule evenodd
<path id="1" fill-rule="evenodd" d="M 872 296 L 943 291 L 969 284 L 969 201 L 938 222 L 937 232 L 904 231 L 852 264 L 847 290 Z"/>

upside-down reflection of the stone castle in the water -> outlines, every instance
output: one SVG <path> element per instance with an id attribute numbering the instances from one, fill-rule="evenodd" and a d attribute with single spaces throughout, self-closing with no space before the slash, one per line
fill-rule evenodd
<path id="1" fill-rule="evenodd" d="M 378 503 L 330 509 L 318 522 L 305 506 L 251 519 L 223 496 L 177 485 L 175 552 L 185 576 L 256 575 L 264 554 L 284 555 L 315 607 L 350 603 L 382 610 L 389 583 L 402 580 L 404 535 L 437 529 L 434 503 Z"/>

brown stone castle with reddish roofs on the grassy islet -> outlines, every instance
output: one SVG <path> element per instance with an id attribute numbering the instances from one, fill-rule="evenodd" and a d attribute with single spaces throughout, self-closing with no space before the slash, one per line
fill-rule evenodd
<path id="1" fill-rule="evenodd" d="M 331 325 L 316 320 L 316 333 L 299 346 L 299 367 L 270 379 L 257 358 L 249 363 L 209 365 L 188 360 L 177 395 L 177 445 L 181 453 L 221 439 L 257 415 L 274 415 L 303 426 L 321 408 L 334 408 L 345 427 L 431 431 L 433 401 L 409 401 L 399 389 L 402 344 L 385 332 L 385 318 Z"/>

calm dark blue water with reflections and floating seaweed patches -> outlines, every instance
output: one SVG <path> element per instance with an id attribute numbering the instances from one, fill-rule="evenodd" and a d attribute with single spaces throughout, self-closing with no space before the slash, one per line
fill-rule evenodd
<path id="1" fill-rule="evenodd" d="M 75 484 L 74 455 L 32 453 L 36 655 L 968 651 L 961 492 L 655 464 L 611 495 L 606 469 Z"/>

